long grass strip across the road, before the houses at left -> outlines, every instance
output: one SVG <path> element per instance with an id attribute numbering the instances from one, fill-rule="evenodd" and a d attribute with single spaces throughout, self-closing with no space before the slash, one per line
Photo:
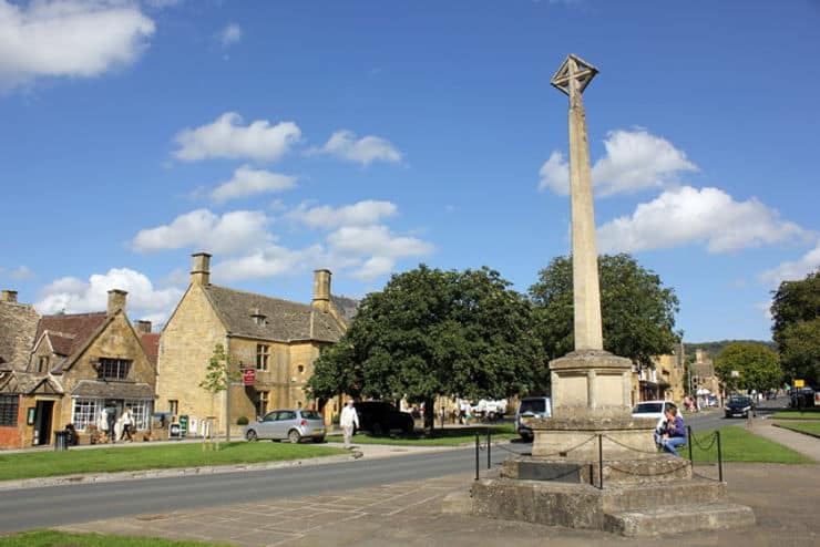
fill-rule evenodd
<path id="1" fill-rule="evenodd" d="M 123 446 L 0 454 L 0 481 L 117 471 L 198 467 L 239 463 L 277 462 L 346 454 L 341 448 L 270 442 L 221 443 L 219 451 L 203 451 L 201 443 Z"/>

